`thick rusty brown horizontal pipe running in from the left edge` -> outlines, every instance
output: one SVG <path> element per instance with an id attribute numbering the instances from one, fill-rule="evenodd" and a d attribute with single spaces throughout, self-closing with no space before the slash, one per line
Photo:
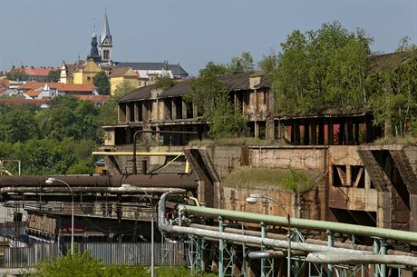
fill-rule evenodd
<path id="1" fill-rule="evenodd" d="M 25 175 L 25 176 L 0 176 L 1 187 L 45 187 L 51 186 L 45 183 L 49 177 L 55 177 L 68 183 L 71 187 L 121 187 L 123 183 L 129 183 L 138 187 L 163 187 L 183 188 L 197 190 L 198 183 L 194 175 L 179 173 L 138 174 L 138 175 Z M 53 186 L 65 186 L 63 183 L 53 183 Z"/>

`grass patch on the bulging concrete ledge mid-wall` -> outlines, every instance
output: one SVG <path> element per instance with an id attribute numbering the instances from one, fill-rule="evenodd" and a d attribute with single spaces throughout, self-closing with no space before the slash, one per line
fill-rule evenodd
<path id="1" fill-rule="evenodd" d="M 250 189 L 269 187 L 305 193 L 315 186 L 315 174 L 294 169 L 240 167 L 223 180 L 227 187 Z"/>

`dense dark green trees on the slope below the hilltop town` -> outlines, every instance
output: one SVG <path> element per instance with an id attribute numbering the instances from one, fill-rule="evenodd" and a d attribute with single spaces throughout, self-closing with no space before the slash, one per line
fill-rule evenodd
<path id="1" fill-rule="evenodd" d="M 55 97 L 50 105 L 0 105 L 0 158 L 21 160 L 24 174 L 93 173 L 91 153 L 102 137 L 106 105 L 72 96 Z"/>

